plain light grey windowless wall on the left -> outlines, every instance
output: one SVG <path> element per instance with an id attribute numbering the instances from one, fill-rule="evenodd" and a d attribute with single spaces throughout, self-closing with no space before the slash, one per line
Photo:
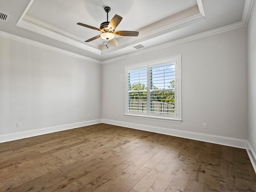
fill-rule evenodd
<path id="1" fill-rule="evenodd" d="M 0 37 L 0 136 L 101 119 L 101 73 L 101 64 Z"/>

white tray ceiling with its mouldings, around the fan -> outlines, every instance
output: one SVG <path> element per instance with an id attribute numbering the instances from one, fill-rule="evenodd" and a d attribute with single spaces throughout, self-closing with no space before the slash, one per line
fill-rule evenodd
<path id="1" fill-rule="evenodd" d="M 200 36 L 246 26 L 253 0 L 0 0 L 0 31 L 13 34 L 80 56 L 99 61 L 122 58 L 187 41 Z M 122 21 L 116 30 L 139 31 L 138 37 L 116 36 L 118 46 L 106 49 L 96 28 L 118 14 Z M 4 33 L 6 32 L 6 33 Z M 1 33 L 0 33 L 1 35 Z M 133 46 L 146 46 L 136 50 Z"/>

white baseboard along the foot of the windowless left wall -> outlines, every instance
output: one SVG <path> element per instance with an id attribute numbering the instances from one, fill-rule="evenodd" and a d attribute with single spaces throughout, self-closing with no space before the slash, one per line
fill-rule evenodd
<path id="1" fill-rule="evenodd" d="M 0 135 L 0 143 L 84 127 L 84 126 L 89 126 L 89 125 L 94 125 L 94 124 L 99 124 L 101 122 L 102 122 L 101 119 L 96 119 L 96 120 L 70 123 L 65 125 L 58 125 L 58 126 L 52 126 L 52 127 L 46 127 L 46 128 L 10 133 L 10 134 L 3 134 L 3 135 Z"/>

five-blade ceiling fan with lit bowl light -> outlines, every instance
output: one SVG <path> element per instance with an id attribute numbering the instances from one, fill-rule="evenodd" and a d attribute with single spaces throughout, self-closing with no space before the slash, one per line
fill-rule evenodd
<path id="1" fill-rule="evenodd" d="M 94 30 L 98 30 L 100 32 L 102 32 L 102 34 L 97 35 L 93 38 L 90 38 L 88 40 L 86 40 L 85 42 L 90 42 L 92 40 L 98 39 L 98 38 L 102 38 L 104 40 L 108 40 L 110 41 L 110 43 L 112 44 L 112 46 L 117 46 L 118 43 L 115 39 L 115 35 L 119 35 L 119 36 L 138 36 L 139 32 L 137 31 L 115 31 L 116 27 L 118 26 L 118 24 L 121 22 L 122 17 L 119 15 L 115 15 L 110 22 L 108 22 L 108 13 L 110 12 L 110 7 L 105 7 L 104 8 L 105 12 L 107 13 L 107 21 L 103 22 L 102 24 L 100 24 L 100 28 L 96 28 L 90 25 L 86 25 L 83 23 L 77 23 L 78 25 L 90 28 L 90 29 L 94 29 Z M 107 46 L 108 48 L 108 46 Z"/>

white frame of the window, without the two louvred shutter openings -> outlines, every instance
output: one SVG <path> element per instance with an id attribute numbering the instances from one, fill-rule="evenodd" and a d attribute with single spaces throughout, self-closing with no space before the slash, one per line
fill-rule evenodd
<path id="1" fill-rule="evenodd" d="M 136 70 L 140 68 L 147 68 L 148 70 L 148 81 L 147 81 L 147 96 L 148 96 L 148 106 L 149 106 L 149 95 L 150 95 L 150 74 L 149 69 L 152 66 L 164 65 L 175 63 L 175 115 L 163 115 L 163 114 L 152 114 L 148 109 L 145 113 L 140 112 L 131 112 L 128 111 L 128 71 Z M 161 58 L 158 60 L 153 60 L 149 62 L 134 64 L 125 66 L 125 112 L 124 115 L 132 118 L 143 118 L 143 119 L 151 119 L 151 120 L 161 120 L 168 122 L 177 122 L 181 123 L 181 55 L 171 56 L 167 58 Z"/>

